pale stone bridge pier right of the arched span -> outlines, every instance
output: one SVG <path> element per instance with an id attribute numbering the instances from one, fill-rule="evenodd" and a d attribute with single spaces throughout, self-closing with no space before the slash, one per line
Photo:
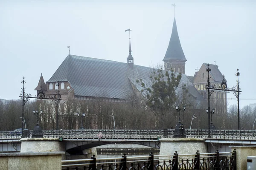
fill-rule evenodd
<path id="1" fill-rule="evenodd" d="M 175 151 L 179 154 L 207 153 L 207 143 L 204 139 L 194 138 L 162 138 L 159 155 L 173 155 Z"/>

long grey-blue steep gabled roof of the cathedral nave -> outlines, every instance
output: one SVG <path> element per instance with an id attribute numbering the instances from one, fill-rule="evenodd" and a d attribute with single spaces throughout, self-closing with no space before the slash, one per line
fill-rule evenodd
<path id="1" fill-rule="evenodd" d="M 47 82 L 68 81 L 76 96 L 127 99 L 132 86 L 142 90 L 137 79 L 145 84 L 151 81 L 152 70 L 140 65 L 131 68 L 124 62 L 68 55 Z M 182 81 L 188 81 L 185 74 Z"/>

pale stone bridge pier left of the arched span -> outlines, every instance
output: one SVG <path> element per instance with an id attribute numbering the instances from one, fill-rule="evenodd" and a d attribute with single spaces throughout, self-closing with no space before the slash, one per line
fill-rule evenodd
<path id="1" fill-rule="evenodd" d="M 20 153 L 65 152 L 65 144 L 58 138 L 22 138 L 20 140 Z M 66 157 L 62 155 L 62 159 L 66 159 Z"/>

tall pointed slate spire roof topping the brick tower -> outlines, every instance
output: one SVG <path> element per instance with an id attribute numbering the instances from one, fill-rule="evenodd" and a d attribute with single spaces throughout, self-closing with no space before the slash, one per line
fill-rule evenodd
<path id="1" fill-rule="evenodd" d="M 175 18 L 172 26 L 172 35 L 171 35 L 170 42 L 169 42 L 163 61 L 166 61 L 166 60 L 185 60 L 186 61 L 186 57 L 180 45 L 180 38 L 178 35 Z"/>

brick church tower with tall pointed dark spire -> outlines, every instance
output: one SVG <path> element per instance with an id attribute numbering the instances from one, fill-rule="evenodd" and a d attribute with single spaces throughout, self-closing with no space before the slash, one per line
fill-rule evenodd
<path id="1" fill-rule="evenodd" d="M 185 74 L 186 57 L 180 45 L 175 18 L 172 26 L 172 35 L 163 62 L 165 70 L 172 69 L 174 72 Z"/>

